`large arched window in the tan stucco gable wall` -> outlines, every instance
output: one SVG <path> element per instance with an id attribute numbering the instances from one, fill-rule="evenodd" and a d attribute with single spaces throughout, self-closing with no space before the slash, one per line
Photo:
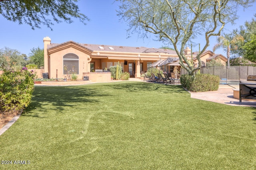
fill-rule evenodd
<path id="1" fill-rule="evenodd" d="M 63 56 L 63 74 L 79 74 L 79 57 L 68 53 Z"/>

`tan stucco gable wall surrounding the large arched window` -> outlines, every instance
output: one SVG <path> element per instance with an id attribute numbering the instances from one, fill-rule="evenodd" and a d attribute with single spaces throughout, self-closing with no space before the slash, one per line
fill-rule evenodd
<path id="1" fill-rule="evenodd" d="M 69 47 L 50 55 L 50 74 L 49 78 L 64 78 L 63 74 L 63 56 L 73 53 L 79 57 L 79 74 L 78 80 L 83 78 L 83 72 L 90 72 L 90 56 L 80 50 Z M 57 72 L 58 70 L 58 72 Z M 57 75 L 56 75 L 57 74 Z"/>

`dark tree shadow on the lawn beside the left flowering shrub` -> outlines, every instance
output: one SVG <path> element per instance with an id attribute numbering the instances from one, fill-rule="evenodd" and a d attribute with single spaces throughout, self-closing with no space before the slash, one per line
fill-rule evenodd
<path id="1" fill-rule="evenodd" d="M 27 116 L 38 117 L 38 114 L 26 114 L 30 111 L 44 111 L 51 105 L 51 108 L 62 111 L 66 106 L 76 107 L 76 104 L 97 103 L 100 98 L 110 96 L 106 92 L 103 94 L 99 89 L 92 86 L 36 86 L 32 96 L 31 104 L 24 109 Z"/>

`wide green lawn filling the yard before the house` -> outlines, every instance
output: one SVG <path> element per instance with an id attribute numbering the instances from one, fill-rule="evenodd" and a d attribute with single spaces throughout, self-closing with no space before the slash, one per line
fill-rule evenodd
<path id="1" fill-rule="evenodd" d="M 12 160 L 0 169 L 256 169 L 256 109 L 144 82 L 36 86 L 0 158 Z"/>

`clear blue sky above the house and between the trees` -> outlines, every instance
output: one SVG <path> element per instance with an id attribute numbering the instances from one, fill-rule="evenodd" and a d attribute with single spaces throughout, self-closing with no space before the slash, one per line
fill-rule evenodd
<path id="1" fill-rule="evenodd" d="M 128 26 L 124 22 L 119 21 L 116 10 L 118 10 L 118 2 L 115 0 L 80 0 L 78 2 L 80 12 L 88 16 L 90 21 L 84 25 L 75 20 L 71 24 L 62 22 L 55 23 L 52 26 L 53 31 L 44 25 L 41 29 L 32 30 L 28 25 L 19 25 L 12 21 L 8 21 L 0 16 L 0 49 L 8 47 L 16 49 L 22 54 L 29 56 L 32 48 L 43 48 L 43 38 L 48 36 L 52 43 L 63 43 L 66 41 L 75 41 L 77 43 L 100 44 L 100 45 L 122 45 L 131 47 L 155 47 L 164 46 L 162 42 L 154 41 L 154 35 L 147 39 L 140 39 L 137 34 L 127 39 L 126 29 Z M 250 21 L 256 14 L 256 4 L 252 7 L 239 10 L 240 18 L 236 20 L 236 25 L 226 24 L 225 33 L 229 33 L 233 29 L 244 25 L 244 22 Z M 198 43 L 202 46 L 204 41 Z M 212 47 L 216 44 L 216 37 L 210 39 L 208 50 L 212 51 Z M 198 47 L 192 49 L 198 51 Z M 226 53 L 220 49 L 216 53 L 226 56 Z"/>

